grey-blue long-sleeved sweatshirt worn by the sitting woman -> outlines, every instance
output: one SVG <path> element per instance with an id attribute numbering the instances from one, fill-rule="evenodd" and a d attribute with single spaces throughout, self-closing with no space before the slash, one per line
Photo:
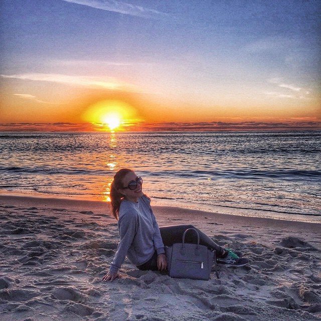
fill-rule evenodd
<path id="1" fill-rule="evenodd" d="M 154 252 L 165 253 L 159 227 L 150 207 L 149 199 L 143 195 L 137 203 L 123 200 L 119 209 L 118 231 L 120 242 L 110 265 L 116 273 L 125 256 L 134 265 L 147 262 Z"/>

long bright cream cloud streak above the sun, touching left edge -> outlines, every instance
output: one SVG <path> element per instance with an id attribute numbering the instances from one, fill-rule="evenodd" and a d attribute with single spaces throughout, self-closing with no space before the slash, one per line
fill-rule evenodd
<path id="1" fill-rule="evenodd" d="M 14 78 L 21 80 L 33 80 L 33 81 L 49 81 L 61 84 L 67 84 L 70 86 L 83 86 L 87 88 L 98 88 L 108 90 L 121 90 L 130 92 L 139 92 L 134 85 L 120 82 L 111 77 L 90 77 L 90 76 L 69 76 L 61 74 L 16 74 L 16 75 L 1 75 L 3 78 Z"/>

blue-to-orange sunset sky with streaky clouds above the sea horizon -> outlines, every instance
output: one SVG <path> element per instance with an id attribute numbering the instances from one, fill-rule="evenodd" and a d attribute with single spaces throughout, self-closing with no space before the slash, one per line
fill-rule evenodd
<path id="1" fill-rule="evenodd" d="M 102 105 L 126 130 L 320 129 L 320 18 L 319 1 L 2 0 L 0 130 L 91 130 Z"/>

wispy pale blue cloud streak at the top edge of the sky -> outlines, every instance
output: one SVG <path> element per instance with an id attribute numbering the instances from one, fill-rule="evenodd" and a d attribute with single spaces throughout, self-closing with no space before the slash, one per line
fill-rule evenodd
<path id="1" fill-rule="evenodd" d="M 95 9 L 117 12 L 123 15 L 141 18 L 162 18 L 168 15 L 153 9 L 127 4 L 116 0 L 63 0 L 65 2 L 87 6 Z"/>

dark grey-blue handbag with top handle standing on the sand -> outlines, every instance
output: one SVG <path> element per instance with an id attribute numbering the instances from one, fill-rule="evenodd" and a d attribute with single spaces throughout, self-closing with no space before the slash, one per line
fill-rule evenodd
<path id="1" fill-rule="evenodd" d="M 197 244 L 185 243 L 185 235 L 189 230 L 197 233 Z M 167 267 L 172 277 L 208 280 L 210 278 L 214 253 L 207 246 L 200 245 L 197 230 L 187 229 L 182 243 L 166 247 Z"/>

